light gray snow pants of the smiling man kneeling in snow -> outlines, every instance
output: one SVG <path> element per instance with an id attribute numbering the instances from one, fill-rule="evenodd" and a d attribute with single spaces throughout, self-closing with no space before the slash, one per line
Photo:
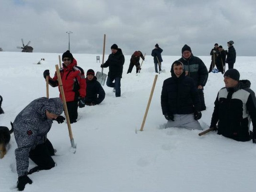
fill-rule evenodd
<path id="1" fill-rule="evenodd" d="M 174 121 L 167 121 L 165 128 L 181 127 L 189 130 L 202 130 L 200 123 L 194 119 L 194 114 L 174 114 Z"/>

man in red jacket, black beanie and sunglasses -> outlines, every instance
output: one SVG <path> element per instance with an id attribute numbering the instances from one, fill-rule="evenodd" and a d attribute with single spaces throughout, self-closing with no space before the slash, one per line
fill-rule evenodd
<path id="1" fill-rule="evenodd" d="M 67 103 L 68 115 L 70 123 L 75 123 L 78 116 L 78 106 L 80 108 L 85 106 L 86 80 L 84 70 L 77 66 L 77 62 L 69 50 L 63 53 L 62 61 L 63 67 L 60 69 L 60 76 Z M 48 69 L 44 71 L 43 75 L 45 79 L 46 76 L 49 76 L 49 84 L 52 87 L 59 85 L 56 72 L 53 78 L 50 77 L 50 71 Z"/>

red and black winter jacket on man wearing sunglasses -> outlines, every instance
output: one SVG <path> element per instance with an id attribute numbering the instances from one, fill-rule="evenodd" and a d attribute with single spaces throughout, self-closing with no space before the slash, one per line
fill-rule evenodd
<path id="1" fill-rule="evenodd" d="M 63 65 L 63 67 L 60 69 L 60 76 L 66 102 L 78 101 L 79 96 L 86 96 L 86 80 L 84 76 L 84 70 L 77 66 L 75 59 L 73 59 L 72 63 L 70 63 L 68 66 Z M 57 79 L 57 73 L 55 72 L 55 75 L 52 79 L 49 77 L 49 84 L 52 87 L 58 86 Z"/>

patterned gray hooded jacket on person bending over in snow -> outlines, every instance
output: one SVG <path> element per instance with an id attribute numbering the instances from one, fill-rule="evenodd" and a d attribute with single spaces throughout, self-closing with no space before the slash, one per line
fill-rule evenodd
<path id="1" fill-rule="evenodd" d="M 18 148 L 15 149 L 18 176 L 27 174 L 29 151 L 44 143 L 53 121 L 47 119 L 46 110 L 60 115 L 63 103 L 60 98 L 41 97 L 28 104 L 15 118 L 13 132 Z"/>

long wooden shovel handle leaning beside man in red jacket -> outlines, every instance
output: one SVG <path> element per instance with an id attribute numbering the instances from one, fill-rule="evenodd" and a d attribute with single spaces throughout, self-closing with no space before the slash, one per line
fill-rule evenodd
<path id="1" fill-rule="evenodd" d="M 71 125 L 70 125 L 70 120 L 69 120 L 69 115 L 68 115 L 68 108 L 67 108 L 67 103 L 66 103 L 66 98 L 65 98 L 65 94 L 64 94 L 62 81 L 61 81 L 59 66 L 55 65 L 55 68 L 56 68 L 56 72 L 57 72 L 57 76 L 58 76 L 61 98 L 62 98 L 62 101 L 63 101 L 63 104 L 64 104 L 64 111 L 65 111 L 67 124 L 68 124 L 68 132 L 69 132 L 70 142 L 71 142 L 71 146 L 75 149 L 76 145 L 75 145 L 72 130 L 71 130 Z"/>

